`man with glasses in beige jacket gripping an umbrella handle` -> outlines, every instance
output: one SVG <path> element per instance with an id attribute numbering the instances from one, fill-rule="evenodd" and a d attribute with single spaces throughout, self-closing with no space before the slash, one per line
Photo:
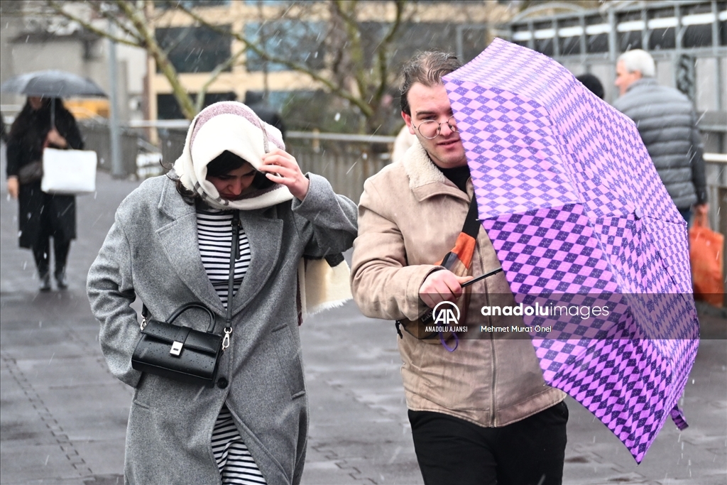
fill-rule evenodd
<path id="1" fill-rule="evenodd" d="M 437 264 L 453 249 L 473 197 L 465 149 L 441 81 L 459 66 L 453 55 L 424 52 L 404 67 L 401 111 L 418 142 L 364 185 L 352 289 L 366 316 L 416 320 L 427 307 L 459 300 L 461 284 L 472 276 L 499 267 L 482 228 L 472 276 Z M 495 298 L 514 302 L 504 274 L 471 288 L 459 324 L 505 324 L 504 317 L 481 314 L 481 306 Z M 425 484 L 560 484 L 568 409 L 564 393 L 545 384 L 529 339 L 480 333 L 460 339 L 453 351 L 455 345 L 434 342 L 409 332 L 398 338 Z"/>

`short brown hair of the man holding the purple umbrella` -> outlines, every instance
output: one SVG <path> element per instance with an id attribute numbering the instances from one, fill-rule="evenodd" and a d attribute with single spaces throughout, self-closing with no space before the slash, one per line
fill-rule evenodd
<path id="1" fill-rule="evenodd" d="M 462 63 L 454 54 L 450 52 L 427 51 L 419 52 L 419 54 L 409 60 L 401 71 L 403 81 L 399 88 L 401 95 L 401 111 L 411 116 L 411 108 L 409 108 L 409 95 L 411 85 L 418 82 L 427 87 L 442 84 L 442 76 L 446 76 L 452 71 L 462 67 Z"/>

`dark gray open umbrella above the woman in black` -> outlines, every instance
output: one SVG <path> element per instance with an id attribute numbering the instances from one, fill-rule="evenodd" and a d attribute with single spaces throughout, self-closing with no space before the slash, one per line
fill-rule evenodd
<path id="1" fill-rule="evenodd" d="M 106 93 L 94 81 L 65 71 L 20 74 L 1 84 L 0 91 L 42 97 L 106 97 Z"/>

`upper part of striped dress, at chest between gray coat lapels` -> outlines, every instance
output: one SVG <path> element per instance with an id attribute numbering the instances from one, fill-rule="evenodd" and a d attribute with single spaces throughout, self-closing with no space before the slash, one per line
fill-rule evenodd
<path id="1" fill-rule="evenodd" d="M 222 304 L 227 308 L 230 278 L 230 246 L 232 245 L 231 211 L 197 209 L 197 238 L 202 264 Z M 235 261 L 234 290 L 237 292 L 250 265 L 250 244 L 244 228 L 240 228 L 240 259 Z"/>

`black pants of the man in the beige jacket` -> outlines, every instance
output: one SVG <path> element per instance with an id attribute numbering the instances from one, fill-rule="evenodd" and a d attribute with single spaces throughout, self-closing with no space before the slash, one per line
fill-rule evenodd
<path id="1" fill-rule="evenodd" d="M 426 485 L 560 485 L 568 407 L 561 402 L 502 428 L 409 411 Z"/>

